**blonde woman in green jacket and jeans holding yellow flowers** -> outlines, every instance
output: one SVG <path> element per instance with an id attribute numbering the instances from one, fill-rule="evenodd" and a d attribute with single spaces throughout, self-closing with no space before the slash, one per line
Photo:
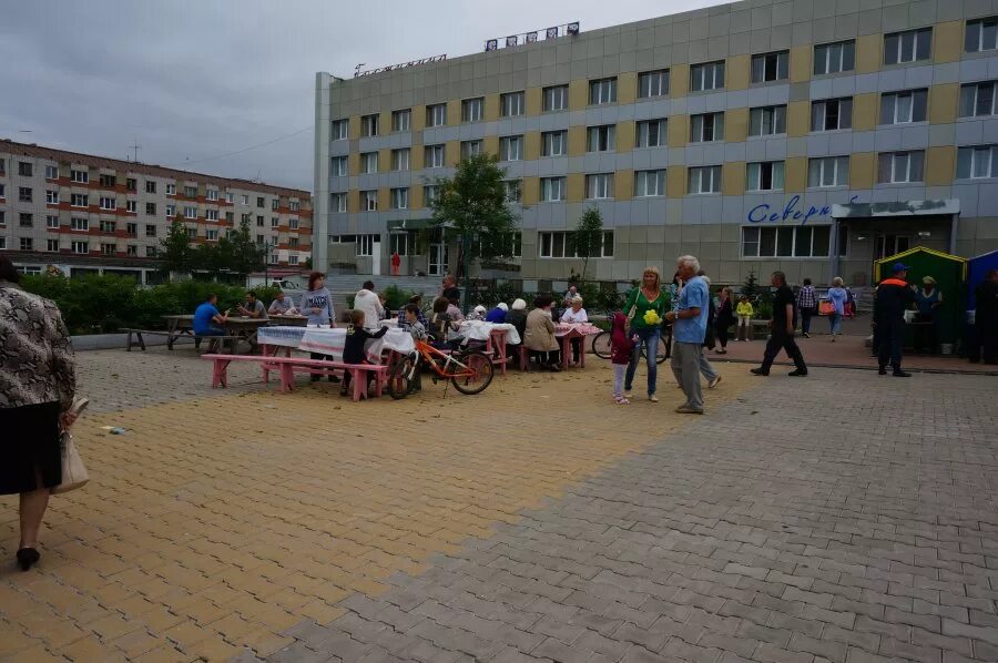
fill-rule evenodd
<path id="1" fill-rule="evenodd" d="M 624 377 L 625 398 L 631 397 L 631 386 L 634 382 L 638 363 L 641 360 L 641 344 L 643 343 L 648 358 L 648 399 L 659 402 L 659 397 L 655 396 L 658 379 L 655 355 L 662 338 L 662 320 L 665 318 L 666 308 L 669 308 L 669 296 L 662 292 L 662 275 L 656 268 L 646 267 L 641 275 L 641 285 L 631 292 L 624 304 L 624 314 L 628 316 L 630 325 L 628 336 L 634 340 L 634 350 L 631 353 L 631 363 L 628 364 L 628 373 Z M 654 312 L 655 315 L 650 316 L 649 312 Z"/>

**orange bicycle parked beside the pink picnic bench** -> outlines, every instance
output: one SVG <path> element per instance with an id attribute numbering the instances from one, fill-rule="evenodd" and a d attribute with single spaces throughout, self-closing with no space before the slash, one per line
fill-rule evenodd
<path id="1" fill-rule="evenodd" d="M 399 400 L 409 395 L 419 378 L 421 364 L 432 369 L 432 380 L 449 379 L 461 394 L 481 394 L 492 384 L 492 359 L 481 350 L 442 353 L 430 344 L 416 341 L 416 351 L 399 360 L 388 374 L 388 394 Z"/>

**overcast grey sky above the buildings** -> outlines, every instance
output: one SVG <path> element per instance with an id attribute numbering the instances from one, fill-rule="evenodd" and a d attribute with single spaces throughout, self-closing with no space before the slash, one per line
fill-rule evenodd
<path id="1" fill-rule="evenodd" d="M 316 71 L 716 3 L 0 0 L 0 137 L 312 191 Z"/>

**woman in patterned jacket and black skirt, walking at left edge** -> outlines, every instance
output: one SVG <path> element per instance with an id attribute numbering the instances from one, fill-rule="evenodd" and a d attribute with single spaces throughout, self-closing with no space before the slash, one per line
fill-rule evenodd
<path id="1" fill-rule="evenodd" d="M 59 308 L 18 286 L 0 256 L 0 494 L 20 494 L 22 571 L 39 560 L 38 530 L 51 490 L 62 482 L 60 436 L 75 419 L 73 348 Z"/>

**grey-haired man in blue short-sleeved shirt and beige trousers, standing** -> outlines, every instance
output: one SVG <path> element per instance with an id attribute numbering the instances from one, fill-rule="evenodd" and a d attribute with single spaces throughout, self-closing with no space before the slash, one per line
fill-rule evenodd
<path id="1" fill-rule="evenodd" d="M 686 402 L 675 408 L 682 415 L 703 414 L 703 391 L 700 388 L 700 357 L 706 335 L 710 293 L 700 272 L 700 261 L 684 255 L 676 262 L 679 277 L 685 282 L 673 310 L 665 314 L 672 320 L 672 373 L 686 395 Z"/>

